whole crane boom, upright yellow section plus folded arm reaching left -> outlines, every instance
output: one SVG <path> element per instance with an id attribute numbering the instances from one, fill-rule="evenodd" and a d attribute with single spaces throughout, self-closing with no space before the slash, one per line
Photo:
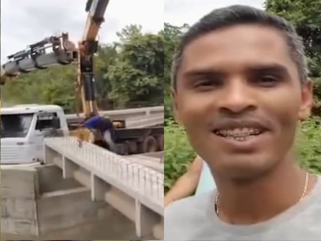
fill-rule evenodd
<path id="1" fill-rule="evenodd" d="M 68 34 L 51 36 L 29 45 L 27 49 L 8 56 L 8 62 L 1 66 L 1 85 L 6 77 L 17 76 L 53 65 L 78 64 L 77 91 L 82 99 L 86 118 L 98 115 L 94 88 L 94 54 L 98 50 L 96 40 L 109 0 L 88 0 L 87 21 L 78 49 L 68 40 Z M 48 53 L 47 50 L 52 52 Z"/>

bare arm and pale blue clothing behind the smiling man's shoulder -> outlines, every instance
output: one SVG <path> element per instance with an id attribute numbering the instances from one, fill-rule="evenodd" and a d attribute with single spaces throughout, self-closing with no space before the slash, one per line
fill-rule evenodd
<path id="1" fill-rule="evenodd" d="M 187 172 L 182 175 L 171 190 L 166 194 L 164 206 L 170 203 L 193 195 L 213 190 L 215 182 L 212 173 L 207 165 L 199 156 L 189 166 Z"/>

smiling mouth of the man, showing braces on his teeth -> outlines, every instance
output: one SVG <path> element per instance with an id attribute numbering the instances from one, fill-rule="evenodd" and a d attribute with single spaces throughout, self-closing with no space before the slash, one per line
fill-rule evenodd
<path id="1" fill-rule="evenodd" d="M 259 137 L 265 132 L 260 128 L 233 128 L 233 129 L 216 129 L 213 133 L 219 137 L 245 142 L 252 138 Z"/>

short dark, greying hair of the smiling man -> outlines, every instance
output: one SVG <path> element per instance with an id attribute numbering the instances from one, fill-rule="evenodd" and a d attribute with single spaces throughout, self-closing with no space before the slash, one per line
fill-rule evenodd
<path id="1" fill-rule="evenodd" d="M 307 64 L 304 56 L 302 38 L 297 35 L 295 28 L 285 19 L 269 14 L 264 10 L 249 6 L 233 5 L 226 8 L 215 9 L 196 24 L 194 24 L 182 37 L 173 60 L 172 82 L 177 87 L 177 73 L 181 67 L 183 52 L 187 45 L 200 36 L 212 31 L 240 24 L 259 24 L 273 27 L 284 33 L 292 60 L 295 62 L 301 82 L 307 80 Z"/>

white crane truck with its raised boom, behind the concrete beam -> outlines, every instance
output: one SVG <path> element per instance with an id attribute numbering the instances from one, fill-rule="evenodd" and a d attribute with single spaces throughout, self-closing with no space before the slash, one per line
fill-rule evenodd
<path id="1" fill-rule="evenodd" d="M 104 21 L 108 0 L 88 0 L 88 12 L 82 39 L 76 45 L 68 33 L 50 36 L 25 50 L 8 56 L 1 68 L 1 86 L 21 74 L 56 65 L 77 67 L 76 95 L 81 98 L 85 119 L 99 115 L 95 99 L 94 54 L 99 28 Z M 77 96 L 76 96 L 77 97 Z M 0 103 L 1 104 L 1 103 Z M 78 111 L 77 111 L 78 114 Z M 108 116 L 102 116 L 109 118 Z M 18 105 L 1 109 L 1 164 L 42 161 L 43 139 L 53 135 L 72 135 L 120 155 L 164 150 L 164 123 L 146 128 L 126 128 L 124 119 L 111 119 L 113 128 L 101 136 L 93 135 L 79 123 L 72 130 L 66 115 L 56 105 Z"/>

